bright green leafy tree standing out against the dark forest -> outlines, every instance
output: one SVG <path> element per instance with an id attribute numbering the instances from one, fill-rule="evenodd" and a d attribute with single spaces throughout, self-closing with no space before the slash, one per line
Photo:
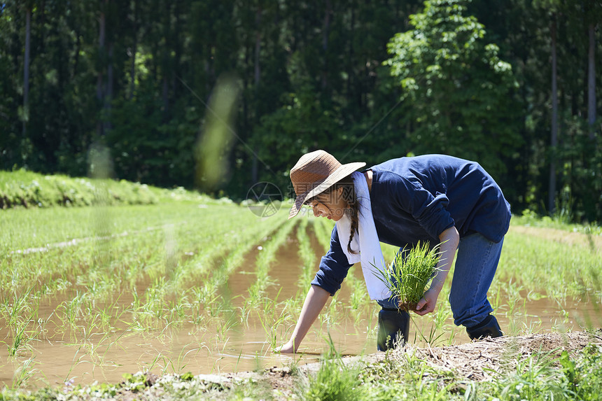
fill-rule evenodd
<path id="1" fill-rule="evenodd" d="M 512 66 L 462 0 L 433 0 L 410 16 L 412 29 L 388 44 L 402 88 L 408 140 L 416 153 L 442 152 L 481 162 L 494 176 L 520 144 Z"/>

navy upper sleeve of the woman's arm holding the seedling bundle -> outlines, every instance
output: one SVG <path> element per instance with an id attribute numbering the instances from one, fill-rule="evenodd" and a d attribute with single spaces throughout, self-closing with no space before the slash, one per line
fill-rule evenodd
<path id="1" fill-rule="evenodd" d="M 440 192 L 433 195 L 415 182 L 400 186 L 402 188 L 398 191 L 398 199 L 402 208 L 416 219 L 430 237 L 438 238 L 439 234 L 454 227 L 454 218 L 447 211 L 447 195 Z"/>

